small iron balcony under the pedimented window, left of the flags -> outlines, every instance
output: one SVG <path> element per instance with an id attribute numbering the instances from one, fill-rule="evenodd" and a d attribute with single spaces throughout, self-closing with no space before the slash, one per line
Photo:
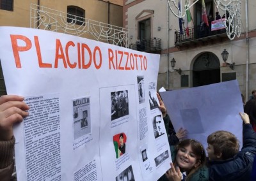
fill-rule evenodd
<path id="1" fill-rule="evenodd" d="M 147 52 L 153 54 L 160 54 L 161 52 L 161 39 L 150 38 L 147 40 L 140 40 L 136 43 L 131 43 L 129 48 L 132 50 L 138 50 L 140 52 Z"/>

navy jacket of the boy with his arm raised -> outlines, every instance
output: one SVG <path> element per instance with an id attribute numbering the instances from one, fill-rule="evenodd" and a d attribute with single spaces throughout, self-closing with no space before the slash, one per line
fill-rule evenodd
<path id="1" fill-rule="evenodd" d="M 256 133 L 251 124 L 243 125 L 243 148 L 236 156 L 225 161 L 209 161 L 209 180 L 250 180 L 256 154 Z"/>

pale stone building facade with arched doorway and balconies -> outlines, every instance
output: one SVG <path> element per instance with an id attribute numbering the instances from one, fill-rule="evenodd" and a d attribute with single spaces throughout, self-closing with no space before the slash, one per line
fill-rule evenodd
<path id="1" fill-rule="evenodd" d="M 176 2 L 178 4 L 178 0 Z M 221 17 L 226 15 L 225 11 L 218 10 L 214 1 L 204 2 L 209 24 L 215 20 L 217 11 Z M 182 89 L 236 79 L 241 93 L 248 99 L 256 89 L 255 6 L 256 1 L 241 2 L 241 35 L 234 40 L 227 37 L 225 29 L 202 28 L 202 0 L 189 9 L 192 18 L 189 36 L 184 31 L 184 20 L 183 33 L 180 32 L 179 18 L 168 8 L 167 0 L 125 0 L 123 21 L 129 29 L 131 45 L 148 39 L 161 41 L 158 50 L 131 47 L 161 55 L 157 88 Z M 221 56 L 224 50 L 228 52 L 226 63 Z M 176 64 L 172 68 L 173 58 Z"/>

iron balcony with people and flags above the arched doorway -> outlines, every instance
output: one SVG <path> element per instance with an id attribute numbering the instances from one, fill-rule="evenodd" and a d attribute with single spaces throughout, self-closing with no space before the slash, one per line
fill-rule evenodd
<path id="1" fill-rule="evenodd" d="M 202 29 L 200 25 L 189 28 L 189 36 L 186 31 L 180 34 L 180 31 L 175 31 L 175 46 L 189 47 L 189 46 L 202 46 L 205 44 L 220 43 L 227 38 L 226 29 L 211 31 L 209 27 Z"/>

